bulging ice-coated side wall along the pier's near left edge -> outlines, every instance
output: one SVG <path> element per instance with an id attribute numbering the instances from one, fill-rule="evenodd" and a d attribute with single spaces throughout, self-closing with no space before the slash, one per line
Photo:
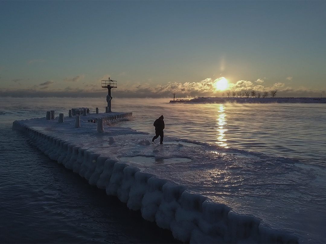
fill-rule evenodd
<path id="1" fill-rule="evenodd" d="M 78 173 L 89 184 L 117 196 L 129 209 L 140 210 L 144 219 L 171 230 L 180 241 L 298 243 L 296 236 L 265 226 L 258 218 L 240 215 L 224 204 L 188 192 L 183 185 L 29 128 L 23 120 L 14 121 L 13 129 L 25 133 L 32 146 Z"/>

